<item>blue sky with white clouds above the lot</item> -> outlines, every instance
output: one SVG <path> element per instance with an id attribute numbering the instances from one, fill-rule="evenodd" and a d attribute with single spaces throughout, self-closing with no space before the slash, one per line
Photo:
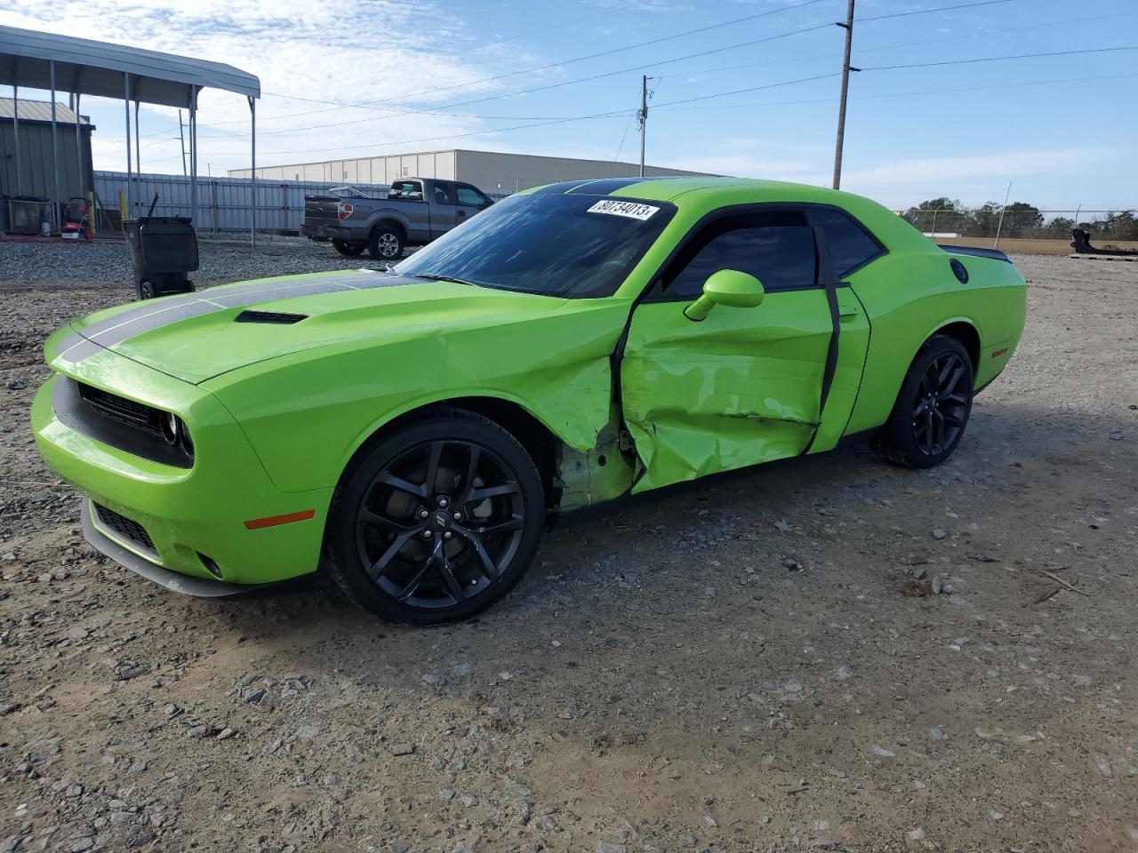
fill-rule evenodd
<path id="1" fill-rule="evenodd" d="M 1046 208 L 1138 207 L 1138 50 L 883 67 L 1138 45 L 1138 2 L 869 19 L 978 1 L 858 0 L 852 64 L 865 71 L 851 78 L 843 189 L 891 207 L 981 204 L 1011 181 L 1013 200 Z M 826 184 L 844 11 L 846 0 L 0 0 L 0 24 L 257 74 L 262 165 L 456 147 L 635 160 L 646 73 L 649 163 Z M 752 91 L 708 97 L 739 90 Z M 121 102 L 84 99 L 83 111 L 96 167 L 123 168 Z M 207 91 L 200 119 L 203 173 L 248 165 L 244 98 Z M 181 171 L 174 110 L 143 106 L 141 133 L 143 171 Z"/>

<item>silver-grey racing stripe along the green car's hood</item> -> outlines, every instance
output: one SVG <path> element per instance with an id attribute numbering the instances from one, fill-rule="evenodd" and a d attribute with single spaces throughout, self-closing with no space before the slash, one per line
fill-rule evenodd
<path id="1" fill-rule="evenodd" d="M 302 296 L 319 296 L 337 291 L 372 290 L 413 284 L 418 280 L 384 275 L 382 273 L 340 275 L 327 279 L 302 279 L 299 281 L 265 281 L 226 288 L 218 291 L 184 293 L 164 297 L 158 303 L 140 303 L 113 317 L 100 320 L 76 330 L 60 347 L 59 357 L 68 362 L 81 362 L 99 349 L 110 348 L 139 334 L 179 323 L 204 314 L 242 308 L 277 299 Z"/>

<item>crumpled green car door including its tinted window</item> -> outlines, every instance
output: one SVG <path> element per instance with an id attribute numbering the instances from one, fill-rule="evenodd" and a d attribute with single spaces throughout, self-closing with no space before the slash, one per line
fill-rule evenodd
<path id="1" fill-rule="evenodd" d="M 807 208 L 768 206 L 733 208 L 688 235 L 635 307 L 622 353 L 621 408 L 644 465 L 634 492 L 827 449 L 841 437 L 869 324 L 827 273 L 825 243 Z M 759 279 L 762 303 L 688 320 L 684 308 L 719 270 Z"/>

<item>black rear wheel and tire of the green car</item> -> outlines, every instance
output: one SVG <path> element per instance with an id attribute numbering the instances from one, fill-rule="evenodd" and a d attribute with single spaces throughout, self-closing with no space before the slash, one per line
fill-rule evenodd
<path id="1" fill-rule="evenodd" d="M 901 383 L 889 421 L 873 440 L 894 465 L 939 465 L 959 445 L 972 414 L 974 373 L 964 346 L 934 334 L 917 353 Z"/>

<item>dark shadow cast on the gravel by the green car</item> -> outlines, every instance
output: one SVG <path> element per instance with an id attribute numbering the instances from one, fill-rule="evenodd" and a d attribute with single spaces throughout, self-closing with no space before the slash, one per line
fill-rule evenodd
<path id="1" fill-rule="evenodd" d="M 848 523 L 858 537 L 888 532 L 890 525 L 906 529 L 910 538 L 929 537 L 930 517 L 942 517 L 949 500 L 958 507 L 984 504 L 984 521 L 1004 528 L 1022 523 L 1024 502 L 1040 483 L 1078 502 L 1094 491 L 1099 466 L 1127 453 L 1138 437 L 1138 415 L 1125 409 L 1088 421 L 981 401 L 974 419 L 960 450 L 931 471 L 887 465 L 865 441 L 850 441 L 833 453 L 576 513 L 547 537 L 518 589 L 465 623 L 421 629 L 378 621 L 346 603 L 323 575 L 250 597 L 196 602 L 190 610 L 208 608 L 214 621 L 224 623 L 218 631 L 256 643 L 278 663 L 291 660 L 298 669 L 332 666 L 365 680 L 418 679 L 440 655 L 446 662 L 493 662 L 503 670 L 531 668 L 537 643 L 559 659 L 551 663 L 553 672 L 588 665 L 591 655 L 604 659 L 627 640 L 629 629 L 662 629 L 677 641 L 696 641 L 708 621 L 701 614 L 745 616 L 778 601 L 789 608 L 809 606 L 811 586 L 834 582 L 826 566 L 843 566 L 849 557 L 846 537 L 818 540 L 817 528 L 827 523 Z M 776 521 L 794 533 L 809 532 L 789 535 Z M 791 571 L 781 562 L 803 550 L 813 555 L 801 556 L 809 571 Z M 751 562 L 758 577 L 748 593 L 716 597 L 715 586 L 728 582 L 728 569 Z M 877 595 L 894 589 L 877 580 Z M 777 619 L 772 619 L 775 630 Z M 624 639 L 616 639 L 613 626 Z M 576 649 L 571 659 L 564 659 L 563 647 Z"/>

